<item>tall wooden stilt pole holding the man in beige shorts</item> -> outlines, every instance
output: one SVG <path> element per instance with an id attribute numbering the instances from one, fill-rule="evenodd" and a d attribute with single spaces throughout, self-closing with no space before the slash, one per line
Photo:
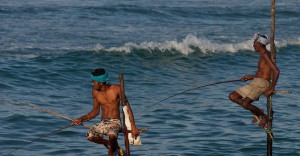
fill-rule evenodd
<path id="1" fill-rule="evenodd" d="M 271 52 L 271 59 L 276 64 L 276 49 L 275 49 L 275 0 L 271 0 L 271 33 L 270 33 L 270 52 Z M 272 129 L 272 122 L 273 122 L 273 108 L 272 108 L 272 97 L 270 96 L 267 99 L 267 111 L 268 116 L 271 118 L 270 121 L 268 121 L 267 128 Z M 270 135 L 267 135 L 267 156 L 272 156 L 272 145 L 273 145 L 273 139 L 270 137 Z"/>

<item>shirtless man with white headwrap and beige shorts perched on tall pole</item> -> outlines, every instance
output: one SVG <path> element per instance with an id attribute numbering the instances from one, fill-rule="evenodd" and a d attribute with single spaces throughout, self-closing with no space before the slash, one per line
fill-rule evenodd
<path id="1" fill-rule="evenodd" d="M 264 127 L 267 124 L 269 117 L 262 109 L 252 105 L 252 102 L 258 100 L 263 93 L 266 97 L 269 97 L 273 93 L 280 73 L 277 66 L 271 60 L 270 52 L 266 49 L 266 45 L 268 44 L 269 40 L 266 35 L 261 35 L 259 33 L 254 35 L 253 48 L 260 54 L 258 69 L 255 75 L 246 75 L 241 78 L 242 81 L 253 80 L 250 84 L 236 89 L 229 95 L 231 101 L 250 110 L 253 115 L 261 117 L 258 127 Z M 273 78 L 271 80 L 272 72 Z M 271 86 L 270 81 L 272 82 Z M 256 122 L 255 119 L 253 120 L 253 123 L 254 122 Z"/>

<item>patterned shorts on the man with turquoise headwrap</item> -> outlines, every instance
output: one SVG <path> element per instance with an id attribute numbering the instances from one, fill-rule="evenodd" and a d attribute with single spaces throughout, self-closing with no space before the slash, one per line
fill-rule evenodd
<path id="1" fill-rule="evenodd" d="M 90 137 L 102 137 L 103 135 L 113 134 L 118 137 L 118 133 L 121 130 L 120 119 L 103 119 L 100 123 L 96 123 L 87 132 L 87 138 Z"/>

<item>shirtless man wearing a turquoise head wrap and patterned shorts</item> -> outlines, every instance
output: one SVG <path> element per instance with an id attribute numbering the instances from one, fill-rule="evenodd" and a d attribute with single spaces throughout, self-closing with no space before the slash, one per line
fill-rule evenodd
<path id="1" fill-rule="evenodd" d="M 118 145 L 118 133 L 121 130 L 120 121 L 120 86 L 117 84 L 108 84 L 108 73 L 104 69 L 96 69 L 91 74 L 93 97 L 93 109 L 72 122 L 73 125 L 79 125 L 84 121 L 95 118 L 102 111 L 101 122 L 96 123 L 87 133 L 87 140 L 98 144 L 104 144 L 109 147 L 108 155 L 113 156 L 116 150 L 121 150 Z M 131 121 L 133 138 L 139 135 L 139 131 L 135 125 L 132 110 L 129 103 L 128 106 L 129 120 Z M 102 136 L 107 135 L 108 140 Z"/>

